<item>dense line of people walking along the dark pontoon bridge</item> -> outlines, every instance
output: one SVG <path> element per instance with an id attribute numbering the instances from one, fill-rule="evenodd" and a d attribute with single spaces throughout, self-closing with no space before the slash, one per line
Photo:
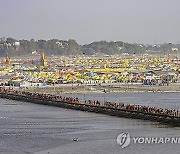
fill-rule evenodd
<path id="1" fill-rule="evenodd" d="M 174 116 L 180 117 L 180 112 L 177 109 L 163 109 L 158 107 L 150 107 L 144 105 L 137 105 L 137 104 L 124 104 L 124 103 L 116 103 L 116 102 L 100 102 L 98 100 L 79 100 L 77 97 L 65 97 L 59 95 L 52 95 L 52 94 L 42 94 L 36 92 L 25 92 L 25 91 L 17 91 L 12 89 L 6 89 L 4 87 L 0 87 L 0 94 L 7 94 L 7 95 L 16 95 L 16 96 L 24 96 L 29 98 L 35 98 L 39 100 L 47 100 L 47 101 L 54 101 L 54 102 L 66 102 L 66 103 L 75 103 L 75 104 L 84 104 L 90 106 L 104 106 L 107 108 L 112 109 L 121 109 L 127 111 L 135 111 L 135 112 L 143 112 L 149 114 L 161 114 L 167 116 Z"/>

